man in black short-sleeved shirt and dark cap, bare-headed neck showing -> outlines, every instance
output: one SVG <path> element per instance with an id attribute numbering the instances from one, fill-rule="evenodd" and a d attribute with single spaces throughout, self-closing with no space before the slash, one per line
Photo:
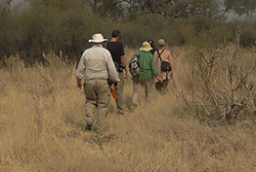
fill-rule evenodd
<path id="1" fill-rule="evenodd" d="M 120 88 L 115 89 L 117 99 L 116 102 L 116 108 L 118 115 L 124 115 L 123 112 L 123 87 L 125 83 L 125 79 L 128 78 L 128 68 L 125 65 L 125 59 L 124 59 L 124 49 L 122 43 L 119 42 L 121 39 L 121 32 L 118 29 L 115 29 L 112 31 L 111 34 L 111 40 L 107 42 L 106 49 L 111 53 L 113 62 L 115 64 L 115 68 L 118 72 L 119 79 L 120 79 Z"/>

